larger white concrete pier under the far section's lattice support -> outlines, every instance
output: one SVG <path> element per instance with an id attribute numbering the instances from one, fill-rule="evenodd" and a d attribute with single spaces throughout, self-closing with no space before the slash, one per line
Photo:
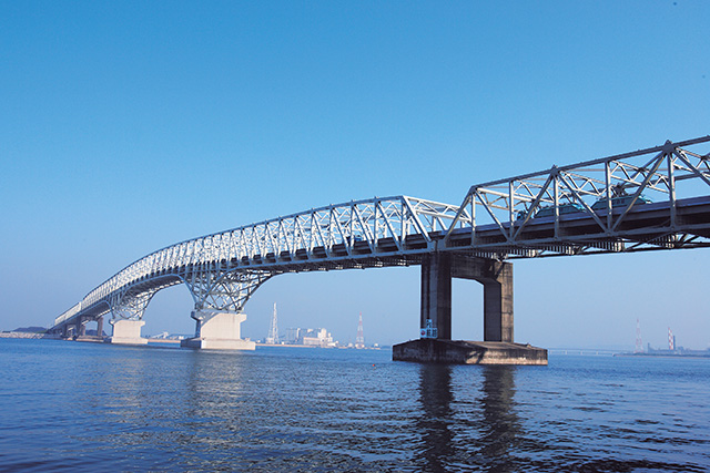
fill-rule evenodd
<path id="1" fill-rule="evenodd" d="M 181 347 L 213 350 L 254 350 L 256 343 L 241 338 L 241 323 L 246 315 L 219 310 L 196 310 L 195 337 L 182 340 Z"/>

